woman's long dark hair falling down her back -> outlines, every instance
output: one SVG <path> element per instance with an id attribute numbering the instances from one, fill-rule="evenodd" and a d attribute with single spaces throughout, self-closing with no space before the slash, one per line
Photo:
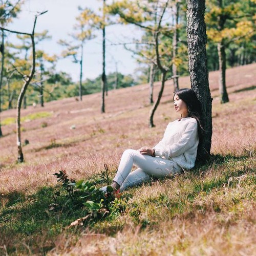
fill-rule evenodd
<path id="1" fill-rule="evenodd" d="M 204 131 L 201 123 L 202 110 L 201 103 L 198 100 L 196 93 L 192 89 L 185 88 L 174 92 L 174 96 L 175 94 L 178 95 L 178 97 L 186 103 L 188 109 L 188 117 L 193 117 L 197 120 L 198 136 L 199 139 L 201 139 Z"/>

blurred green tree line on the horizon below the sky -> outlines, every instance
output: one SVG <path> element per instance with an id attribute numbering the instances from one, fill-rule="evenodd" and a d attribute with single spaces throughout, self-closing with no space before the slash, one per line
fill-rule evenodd
<path id="1" fill-rule="evenodd" d="M 138 84 L 132 75 L 123 75 L 121 73 L 110 73 L 106 75 L 108 79 L 108 90 L 115 90 L 125 87 L 131 87 Z M 15 84 L 19 84 L 22 77 L 20 75 L 13 75 L 11 82 L 12 88 Z M 79 82 L 72 81 L 72 77 L 65 73 L 52 73 L 49 78 L 44 80 L 44 102 L 58 100 L 69 97 L 77 97 L 79 95 Z M 101 91 L 101 75 L 95 79 L 86 79 L 82 81 L 83 95 L 99 93 Z M 23 102 L 23 108 L 27 105 L 41 106 L 42 97 L 40 97 L 39 83 L 31 84 L 26 94 L 26 104 Z M 18 88 L 11 90 L 8 87 L 2 89 L 2 110 L 16 108 Z"/>

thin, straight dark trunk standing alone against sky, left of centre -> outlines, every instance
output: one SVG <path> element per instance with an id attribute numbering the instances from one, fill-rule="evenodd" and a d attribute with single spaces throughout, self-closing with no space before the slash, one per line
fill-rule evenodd
<path id="1" fill-rule="evenodd" d="M 103 0 L 103 23 L 105 22 L 105 0 Z M 106 74 L 105 74 L 105 24 L 102 28 L 102 76 L 101 76 L 101 91 L 102 91 L 102 101 L 101 101 L 101 113 L 105 113 L 105 90 L 106 90 Z M 107 93 L 108 95 L 108 93 Z"/>

